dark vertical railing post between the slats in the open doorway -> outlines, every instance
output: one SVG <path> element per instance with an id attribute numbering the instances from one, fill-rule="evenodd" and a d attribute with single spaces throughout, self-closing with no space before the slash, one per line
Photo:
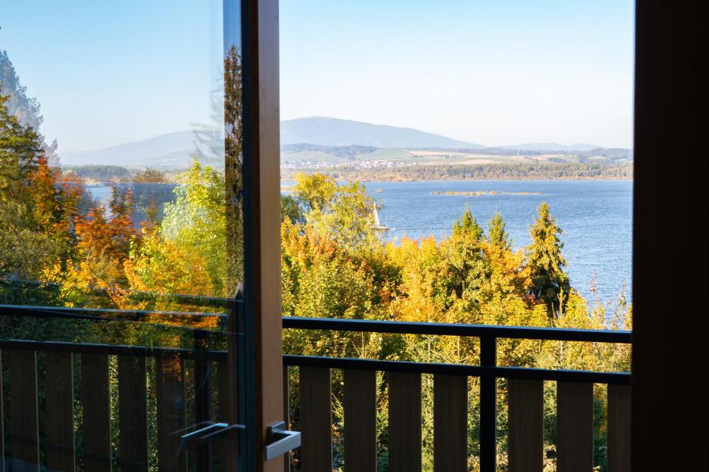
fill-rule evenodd
<path id="1" fill-rule="evenodd" d="M 480 338 L 480 365 L 496 367 L 497 338 Z M 497 467 L 497 379 L 480 379 L 480 471 L 495 472 Z"/>

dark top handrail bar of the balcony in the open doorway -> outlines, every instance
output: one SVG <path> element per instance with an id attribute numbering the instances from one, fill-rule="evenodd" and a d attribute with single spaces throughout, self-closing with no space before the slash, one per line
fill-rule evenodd
<path id="1" fill-rule="evenodd" d="M 630 344 L 631 331 L 546 328 L 543 326 L 492 326 L 408 321 L 351 320 L 341 318 L 298 318 L 284 316 L 289 329 L 357 331 L 364 333 L 420 334 L 444 336 L 588 341 L 591 343 Z"/>

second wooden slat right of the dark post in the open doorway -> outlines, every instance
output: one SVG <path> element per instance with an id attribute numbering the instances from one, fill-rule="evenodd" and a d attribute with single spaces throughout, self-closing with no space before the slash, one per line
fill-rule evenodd
<path id="1" fill-rule="evenodd" d="M 593 469 L 593 384 L 557 382 L 557 471 Z"/>

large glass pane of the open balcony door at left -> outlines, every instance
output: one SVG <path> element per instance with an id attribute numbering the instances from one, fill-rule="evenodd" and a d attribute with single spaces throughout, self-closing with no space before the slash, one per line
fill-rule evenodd
<path id="1" fill-rule="evenodd" d="M 2 8 L 0 455 L 13 470 L 233 467 L 219 425 L 233 423 L 227 317 L 243 279 L 239 9 Z"/>

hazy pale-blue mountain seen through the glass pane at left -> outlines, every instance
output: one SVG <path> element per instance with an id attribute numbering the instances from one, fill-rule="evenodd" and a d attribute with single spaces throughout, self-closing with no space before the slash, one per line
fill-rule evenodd
<path id="1" fill-rule="evenodd" d="M 118 144 L 96 151 L 61 153 L 62 164 L 112 164 L 117 166 L 184 166 L 194 155 L 194 132 L 160 134 L 143 141 Z"/>

